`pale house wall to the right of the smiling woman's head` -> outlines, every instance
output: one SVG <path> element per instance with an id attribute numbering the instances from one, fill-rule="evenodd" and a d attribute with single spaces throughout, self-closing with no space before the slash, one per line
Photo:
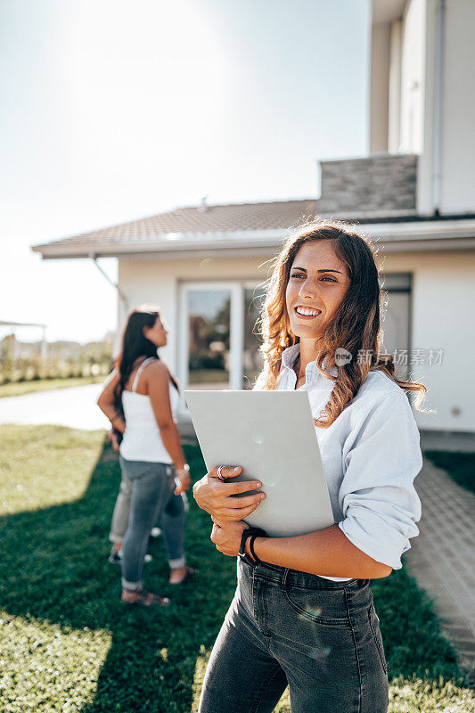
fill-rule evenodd
<path id="1" fill-rule="evenodd" d="M 413 275 L 411 348 L 444 349 L 441 365 L 410 368 L 411 378 L 428 389 L 422 407 L 438 412 L 414 410 L 418 426 L 475 431 L 475 254 L 392 254 L 383 266 Z"/>

